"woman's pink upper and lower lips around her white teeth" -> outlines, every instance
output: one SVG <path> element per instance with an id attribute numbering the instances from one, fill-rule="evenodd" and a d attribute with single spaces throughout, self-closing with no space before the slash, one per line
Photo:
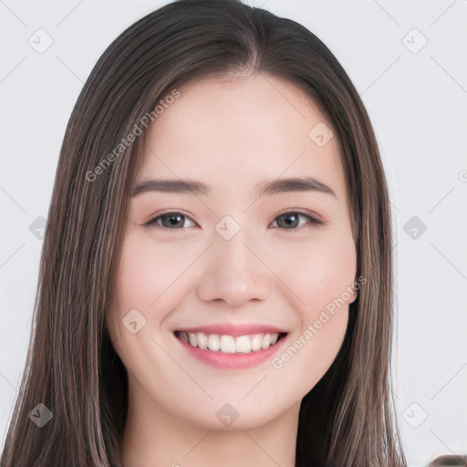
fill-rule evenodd
<path id="1" fill-rule="evenodd" d="M 280 348 L 283 348 L 285 343 L 286 332 L 278 327 L 265 326 L 265 325 L 252 325 L 252 324 L 219 324 L 208 325 L 202 327 L 187 327 L 181 328 L 179 331 L 185 332 L 203 332 L 205 334 L 219 334 L 232 337 L 244 336 L 249 334 L 265 334 L 265 333 L 278 333 L 279 338 L 277 342 L 269 348 L 264 348 L 250 353 L 223 353 L 221 351 L 212 351 L 209 349 L 202 349 L 192 347 L 188 342 L 182 339 L 175 333 L 177 340 L 181 343 L 182 347 L 193 357 L 202 363 L 210 365 L 213 368 L 220 369 L 235 369 L 235 368 L 252 368 L 265 361 L 270 360 Z"/>

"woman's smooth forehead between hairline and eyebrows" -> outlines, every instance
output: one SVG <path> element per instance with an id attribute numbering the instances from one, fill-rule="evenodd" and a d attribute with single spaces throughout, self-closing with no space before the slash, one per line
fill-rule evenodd
<path id="1" fill-rule="evenodd" d="M 337 138 L 317 105 L 292 83 L 259 74 L 183 89 L 152 124 L 137 180 L 190 178 L 253 191 L 281 176 L 316 177 L 345 195 Z"/>

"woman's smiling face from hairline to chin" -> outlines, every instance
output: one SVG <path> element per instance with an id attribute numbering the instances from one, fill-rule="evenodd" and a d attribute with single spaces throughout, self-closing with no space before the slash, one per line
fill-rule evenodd
<path id="1" fill-rule="evenodd" d="M 327 121 L 278 78 L 203 80 L 155 120 L 135 186 L 107 317 L 130 404 L 210 430 L 296 417 L 355 299 Z"/>

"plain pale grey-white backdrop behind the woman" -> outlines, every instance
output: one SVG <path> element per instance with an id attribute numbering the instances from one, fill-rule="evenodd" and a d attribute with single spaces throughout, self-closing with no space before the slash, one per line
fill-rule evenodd
<path id="1" fill-rule="evenodd" d="M 67 120 L 110 42 L 166 3 L 0 1 L 2 445 Z M 248 3 L 319 36 L 368 109 L 396 227 L 393 378 L 408 462 L 467 454 L 467 0 Z"/>

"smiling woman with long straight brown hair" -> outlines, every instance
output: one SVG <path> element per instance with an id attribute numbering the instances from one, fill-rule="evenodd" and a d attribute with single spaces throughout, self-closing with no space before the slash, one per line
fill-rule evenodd
<path id="1" fill-rule="evenodd" d="M 317 36 L 237 0 L 145 16 L 67 126 L 2 467 L 406 465 L 390 251 Z"/>

